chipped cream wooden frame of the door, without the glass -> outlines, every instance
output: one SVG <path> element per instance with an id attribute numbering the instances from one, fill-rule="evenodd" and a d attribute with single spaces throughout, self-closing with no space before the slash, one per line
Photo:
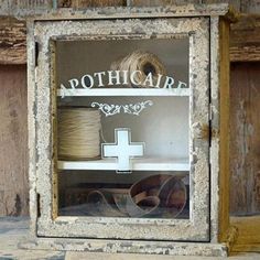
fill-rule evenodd
<path id="1" fill-rule="evenodd" d="M 41 217 L 37 218 L 39 236 L 55 237 L 99 237 L 123 239 L 159 239 L 159 240 L 209 240 L 209 175 L 208 175 L 208 140 L 201 138 L 203 127 L 208 127 L 208 64 L 209 64 L 209 20 L 193 19 L 134 19 L 101 21 L 36 21 L 34 39 L 41 45 L 39 54 L 37 87 L 35 88 L 36 124 L 39 158 L 36 167 L 36 186 L 41 197 Z M 145 28 L 145 34 L 143 34 Z M 93 32 L 96 32 L 93 35 Z M 50 39 L 63 37 L 74 40 L 118 40 L 118 39 L 150 39 L 158 32 L 158 39 L 188 37 L 189 46 L 189 87 L 191 99 L 191 216 L 189 219 L 136 219 L 136 218 L 84 218 L 73 221 L 52 219 L 52 121 L 50 118 L 50 85 L 53 77 L 50 71 Z M 192 33 L 189 33 L 192 32 Z M 98 36 L 96 36 L 98 34 Z M 122 34 L 122 35 L 121 35 Z M 121 35 L 121 36 L 119 36 Z M 34 41 L 34 40 L 33 40 Z M 33 43 L 34 44 L 34 43 Z M 203 46 L 203 47 L 202 47 Z M 34 72 L 33 72 L 34 73 Z M 35 86 L 34 86 L 35 87 Z M 196 122 L 196 123 L 194 123 Z M 35 173 L 34 173 L 35 174 Z M 64 228 L 66 226 L 66 228 Z M 160 226 L 160 228 L 159 228 Z M 116 227 L 116 228 L 115 228 Z"/>

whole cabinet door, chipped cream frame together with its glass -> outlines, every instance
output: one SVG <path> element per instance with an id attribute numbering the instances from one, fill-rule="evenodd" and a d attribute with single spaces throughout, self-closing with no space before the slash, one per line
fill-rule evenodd
<path id="1" fill-rule="evenodd" d="M 53 154 L 41 236 L 209 239 L 208 20 L 140 22 L 36 24 Z"/>

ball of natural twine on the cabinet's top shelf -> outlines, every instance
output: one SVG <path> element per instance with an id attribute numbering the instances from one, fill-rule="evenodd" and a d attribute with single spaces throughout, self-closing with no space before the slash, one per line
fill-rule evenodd
<path id="1" fill-rule="evenodd" d="M 126 57 L 113 62 L 110 66 L 112 71 L 129 71 L 128 82 L 130 83 L 130 75 L 134 71 L 140 71 L 141 73 L 134 74 L 134 82 L 141 83 L 142 87 L 152 87 L 149 83 L 143 84 L 147 76 L 151 73 L 153 86 L 156 85 L 159 74 L 166 75 L 166 68 L 160 58 L 150 52 L 145 51 L 134 51 L 128 54 Z M 129 84 L 128 87 L 137 87 L 133 84 Z"/>

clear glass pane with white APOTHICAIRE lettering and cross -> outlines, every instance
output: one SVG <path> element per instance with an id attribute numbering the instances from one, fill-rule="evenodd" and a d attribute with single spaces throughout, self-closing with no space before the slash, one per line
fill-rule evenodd
<path id="1" fill-rule="evenodd" d="M 189 217 L 188 39 L 56 42 L 58 214 Z"/>

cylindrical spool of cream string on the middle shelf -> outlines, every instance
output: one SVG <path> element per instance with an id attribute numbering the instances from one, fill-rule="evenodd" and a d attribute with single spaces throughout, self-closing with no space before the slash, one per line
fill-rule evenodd
<path id="1" fill-rule="evenodd" d="M 58 109 L 58 158 L 100 159 L 100 112 L 93 108 Z"/>

